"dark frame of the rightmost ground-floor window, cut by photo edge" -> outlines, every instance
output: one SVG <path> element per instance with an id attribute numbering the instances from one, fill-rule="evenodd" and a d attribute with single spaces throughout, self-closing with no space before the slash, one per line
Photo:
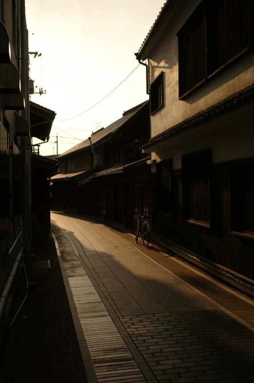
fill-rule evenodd
<path id="1" fill-rule="evenodd" d="M 231 161 L 230 164 L 229 164 L 229 170 L 230 170 L 230 234 L 233 234 L 233 235 L 236 235 L 236 236 L 241 236 L 241 237 L 245 237 L 245 238 L 250 238 L 250 239 L 254 239 L 254 232 L 250 232 L 250 231 L 246 231 L 246 230 L 234 230 L 234 229 L 237 229 L 236 227 L 234 227 L 234 223 L 233 223 L 233 216 L 234 216 L 234 213 L 233 213 L 233 210 L 234 210 L 234 207 L 233 207 L 233 204 L 232 204 L 232 193 L 233 193 L 233 190 L 232 190 L 232 184 L 233 184 L 233 167 L 235 165 L 251 165 L 253 164 L 254 166 L 254 158 L 244 158 L 244 159 L 241 159 L 241 160 L 236 160 L 236 161 Z"/>

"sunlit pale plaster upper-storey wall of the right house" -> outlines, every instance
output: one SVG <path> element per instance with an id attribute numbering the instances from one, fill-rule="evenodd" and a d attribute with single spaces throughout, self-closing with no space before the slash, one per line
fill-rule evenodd
<path id="1" fill-rule="evenodd" d="M 254 82 L 254 52 L 247 53 L 214 78 L 201 85 L 184 100 L 178 94 L 178 39 L 176 33 L 193 13 L 200 0 L 172 1 L 170 17 L 148 45 L 150 82 L 165 72 L 164 107 L 151 116 L 151 137 L 174 126 L 200 110 L 215 104 Z"/>

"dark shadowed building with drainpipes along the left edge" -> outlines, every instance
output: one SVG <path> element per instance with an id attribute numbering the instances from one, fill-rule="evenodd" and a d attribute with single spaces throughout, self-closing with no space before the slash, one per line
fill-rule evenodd
<path id="1" fill-rule="evenodd" d="M 41 166 L 32 161 L 32 170 L 35 170 L 32 175 L 32 184 L 35 186 L 33 190 L 31 136 L 45 141 L 49 137 L 55 118 L 55 112 L 30 103 L 29 94 L 28 33 L 24 0 L 2 0 L 0 1 L 0 352 L 4 344 L 2 340 L 7 334 L 5 330 L 14 318 L 11 303 L 16 290 L 12 282 L 17 281 L 15 276 L 23 272 L 23 265 L 28 273 L 32 267 L 32 255 L 29 251 L 29 244 L 31 246 L 32 241 L 32 194 L 35 196 L 33 191 L 36 191 L 41 181 L 38 174 Z M 31 131 L 30 121 L 31 125 L 36 125 Z M 49 172 L 47 177 L 53 172 Z M 33 182 L 35 178 L 37 180 Z M 49 209 L 46 214 L 43 211 L 48 217 L 49 213 Z M 16 288 L 19 288 L 18 282 Z M 9 294 L 10 291 L 12 294 Z"/>

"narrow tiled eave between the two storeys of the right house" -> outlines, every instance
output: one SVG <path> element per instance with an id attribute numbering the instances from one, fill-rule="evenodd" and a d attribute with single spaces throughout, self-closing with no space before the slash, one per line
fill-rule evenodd
<path id="1" fill-rule="evenodd" d="M 243 99 L 250 96 L 251 94 L 254 94 L 254 83 L 150 138 L 150 140 L 146 144 L 142 145 L 141 148 L 148 149 L 158 141 L 170 139 L 172 136 L 175 136 L 175 134 L 178 134 L 182 130 L 191 129 L 193 126 L 196 126 L 198 121 L 203 120 L 204 118 L 207 118 L 214 113 L 221 113 L 223 109 L 229 106 L 240 104 Z"/>

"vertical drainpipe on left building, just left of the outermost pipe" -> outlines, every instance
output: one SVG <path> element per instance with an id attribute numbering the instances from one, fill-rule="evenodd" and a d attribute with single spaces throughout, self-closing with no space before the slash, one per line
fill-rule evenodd
<path id="1" fill-rule="evenodd" d="M 25 104 L 26 97 L 26 19 L 25 19 L 25 0 L 20 0 L 20 38 L 21 38 L 21 89 L 24 94 Z M 25 110 L 22 110 L 22 117 L 26 118 L 27 105 Z M 25 267 L 28 271 L 31 270 L 32 256 L 28 251 L 28 209 L 27 209 L 27 145 L 26 136 L 21 139 L 22 147 L 22 162 L 23 162 L 23 190 L 24 190 L 24 210 L 23 210 L 23 250 Z"/>

